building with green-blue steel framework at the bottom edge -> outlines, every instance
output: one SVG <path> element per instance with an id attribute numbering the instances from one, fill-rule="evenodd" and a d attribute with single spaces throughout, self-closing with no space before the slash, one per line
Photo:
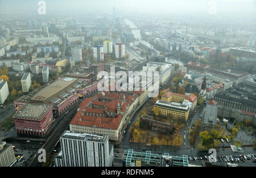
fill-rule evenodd
<path id="1" fill-rule="evenodd" d="M 136 152 L 126 150 L 123 154 L 123 166 L 126 167 L 188 167 L 188 156 L 152 154 L 151 151 Z"/>

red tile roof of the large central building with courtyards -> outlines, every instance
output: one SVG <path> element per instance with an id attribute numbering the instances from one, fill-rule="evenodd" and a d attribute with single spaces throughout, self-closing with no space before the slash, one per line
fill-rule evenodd
<path id="1" fill-rule="evenodd" d="M 106 129 L 118 129 L 119 124 L 122 119 L 122 115 L 118 114 L 115 118 L 105 118 L 105 117 L 93 117 L 85 115 L 85 113 L 97 113 L 97 114 L 106 114 L 106 111 L 117 113 L 117 106 L 119 103 L 120 111 L 125 112 L 127 107 L 133 102 L 133 100 L 138 97 L 138 92 L 133 92 L 133 95 L 125 96 L 125 101 L 123 101 L 123 93 L 110 93 L 110 92 L 101 92 L 94 96 L 93 98 L 85 98 L 79 106 L 79 111 L 77 111 L 75 117 L 73 117 L 71 124 L 72 125 L 81 125 L 81 126 L 97 126 Z M 107 99 L 109 98 L 109 100 Z M 108 100 L 109 102 L 98 101 L 99 99 Z M 114 100 L 113 100 L 114 99 Z M 105 109 L 96 109 L 92 108 L 93 105 L 106 106 Z"/>

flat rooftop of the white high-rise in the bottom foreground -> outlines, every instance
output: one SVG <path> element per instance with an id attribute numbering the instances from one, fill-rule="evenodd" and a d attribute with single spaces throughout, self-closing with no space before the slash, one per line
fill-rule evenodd
<path id="1" fill-rule="evenodd" d="M 80 140 L 92 140 L 96 142 L 105 142 L 106 135 L 94 135 L 94 134 L 86 134 L 86 133 L 77 133 L 74 131 L 66 130 L 61 138 L 71 138 L 71 139 L 80 139 Z"/>

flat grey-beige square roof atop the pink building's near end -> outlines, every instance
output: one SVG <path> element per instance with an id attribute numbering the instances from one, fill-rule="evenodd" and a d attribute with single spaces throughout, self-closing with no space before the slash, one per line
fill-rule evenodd
<path id="1" fill-rule="evenodd" d="M 51 108 L 51 104 L 26 104 L 24 105 L 13 118 L 26 118 L 41 121 L 44 114 Z"/>

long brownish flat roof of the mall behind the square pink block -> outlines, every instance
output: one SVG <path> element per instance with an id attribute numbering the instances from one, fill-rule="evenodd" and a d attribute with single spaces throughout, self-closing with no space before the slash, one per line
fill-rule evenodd
<path id="1" fill-rule="evenodd" d="M 52 84 L 46 86 L 42 90 L 40 90 L 38 93 L 34 95 L 34 97 L 31 98 L 31 100 L 43 102 L 44 100 L 47 100 L 47 98 L 53 96 L 54 94 L 60 92 L 61 90 L 68 88 L 68 86 L 75 84 L 77 80 L 78 80 L 77 78 L 69 78 L 69 77 L 61 78 L 60 80 L 57 80 Z"/>

